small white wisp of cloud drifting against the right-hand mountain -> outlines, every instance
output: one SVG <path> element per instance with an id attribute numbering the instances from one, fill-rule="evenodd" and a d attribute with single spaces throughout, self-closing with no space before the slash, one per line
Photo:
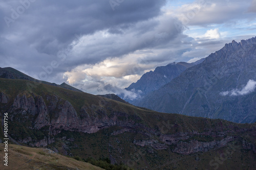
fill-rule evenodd
<path id="1" fill-rule="evenodd" d="M 249 80 L 247 84 L 241 89 L 233 89 L 230 91 L 224 91 L 221 92 L 220 94 L 225 96 L 225 95 L 230 95 L 230 96 L 236 96 L 236 95 L 245 95 L 253 92 L 256 88 L 256 81 Z"/>

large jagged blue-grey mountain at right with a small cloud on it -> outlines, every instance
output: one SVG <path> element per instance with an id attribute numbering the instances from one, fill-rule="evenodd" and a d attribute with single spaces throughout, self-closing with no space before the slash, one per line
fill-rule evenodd
<path id="1" fill-rule="evenodd" d="M 160 112 L 256 121 L 256 37 L 232 41 L 148 94 L 138 106 Z"/>

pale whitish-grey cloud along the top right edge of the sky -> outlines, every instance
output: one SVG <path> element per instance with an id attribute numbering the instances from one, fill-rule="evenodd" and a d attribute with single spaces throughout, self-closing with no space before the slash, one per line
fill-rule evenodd
<path id="1" fill-rule="evenodd" d="M 243 1 L 194 1 L 190 4 L 182 5 L 176 9 L 174 14 L 185 25 L 209 26 L 212 24 L 227 23 L 244 17 L 254 18 L 252 14 L 245 14 L 248 8 L 253 8 L 253 3 Z"/>

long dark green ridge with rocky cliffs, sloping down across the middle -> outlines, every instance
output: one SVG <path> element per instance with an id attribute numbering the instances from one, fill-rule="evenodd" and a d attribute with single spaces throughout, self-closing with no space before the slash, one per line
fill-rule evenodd
<path id="1" fill-rule="evenodd" d="M 43 83 L 28 86 L 31 83 L 0 78 L 0 118 L 8 113 L 9 142 L 81 159 L 107 157 L 134 169 L 256 168 L 255 123 L 159 113 Z M 36 163 L 33 155 L 26 163 Z M 37 162 L 43 167 L 50 162 L 43 163 Z"/>

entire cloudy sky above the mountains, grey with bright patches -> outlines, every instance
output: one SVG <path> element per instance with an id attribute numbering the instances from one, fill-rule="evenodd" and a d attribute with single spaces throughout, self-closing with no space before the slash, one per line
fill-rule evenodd
<path id="1" fill-rule="evenodd" d="M 0 2 L 0 67 L 92 94 L 256 36 L 256 0 Z"/>

